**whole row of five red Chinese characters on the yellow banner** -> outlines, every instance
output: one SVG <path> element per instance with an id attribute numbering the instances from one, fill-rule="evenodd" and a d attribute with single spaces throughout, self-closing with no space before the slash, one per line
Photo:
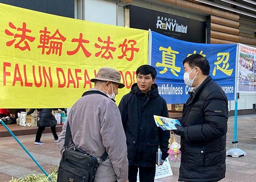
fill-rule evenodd
<path id="1" fill-rule="evenodd" d="M 16 27 L 12 22 L 9 22 L 9 27 L 16 31 L 21 31 L 20 34 L 12 33 L 10 30 L 5 29 L 5 34 L 12 36 L 13 39 L 6 42 L 7 46 L 11 46 L 13 44 L 15 48 L 20 49 L 21 51 L 28 50 L 31 51 L 31 48 L 28 42 L 33 42 L 36 37 L 32 37 L 27 35 L 31 33 L 32 30 L 27 29 L 27 24 L 25 22 L 22 23 L 22 27 Z M 62 54 L 62 47 L 63 43 L 66 41 L 66 37 L 62 35 L 59 29 L 51 35 L 51 32 L 47 30 L 47 27 L 44 27 L 43 30 L 40 30 L 40 38 L 39 38 L 39 45 L 37 45 L 38 49 L 42 49 L 42 55 L 46 54 L 55 54 L 61 56 Z M 113 59 L 113 52 L 117 50 L 117 47 L 113 46 L 114 42 L 110 40 L 111 36 L 107 36 L 107 40 L 102 40 L 101 37 L 98 37 L 98 42 L 96 42 L 95 48 L 98 52 L 95 53 L 96 57 L 101 56 L 106 60 Z M 66 51 L 67 55 L 72 56 L 75 55 L 80 49 L 83 51 L 84 55 L 88 58 L 91 56 L 91 52 L 86 49 L 85 44 L 89 44 L 90 40 L 83 39 L 83 33 L 79 34 L 79 38 L 73 38 L 71 42 L 76 42 L 77 47 L 73 51 Z M 127 38 L 123 40 L 123 43 L 118 45 L 119 52 L 122 52 L 122 55 L 119 54 L 117 58 L 122 60 L 124 57 L 127 61 L 133 61 L 134 52 L 139 52 L 139 48 L 136 48 L 137 45 L 136 40 L 128 40 Z"/>

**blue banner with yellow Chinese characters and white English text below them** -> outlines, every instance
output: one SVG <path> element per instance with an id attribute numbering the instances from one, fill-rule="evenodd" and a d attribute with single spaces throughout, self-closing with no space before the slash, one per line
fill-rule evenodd
<path id="1" fill-rule="evenodd" d="M 222 87 L 229 101 L 235 99 L 236 44 L 198 44 L 173 39 L 154 31 L 151 31 L 151 35 L 149 62 L 156 68 L 156 84 L 168 104 L 186 103 L 188 91 L 192 91 L 183 81 L 182 64 L 192 54 L 206 57 L 213 81 Z"/>

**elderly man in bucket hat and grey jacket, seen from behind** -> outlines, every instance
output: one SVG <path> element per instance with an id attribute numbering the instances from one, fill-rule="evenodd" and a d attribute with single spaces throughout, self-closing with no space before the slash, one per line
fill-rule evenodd
<path id="1" fill-rule="evenodd" d="M 78 147 L 100 158 L 106 151 L 108 157 L 97 169 L 95 182 L 128 182 L 126 136 L 120 111 L 112 101 L 123 88 L 119 71 L 104 67 L 91 79 L 95 87 L 86 91 L 69 111 L 72 140 L 69 147 Z M 59 135 L 59 149 L 64 151 L 67 123 Z"/>

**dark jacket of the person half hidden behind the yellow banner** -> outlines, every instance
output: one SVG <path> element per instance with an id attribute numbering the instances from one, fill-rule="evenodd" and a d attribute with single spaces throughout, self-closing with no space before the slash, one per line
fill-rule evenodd
<path id="1" fill-rule="evenodd" d="M 27 115 L 32 114 L 35 111 L 35 109 L 30 109 L 27 112 Z M 52 114 L 52 109 L 38 109 L 39 111 L 39 119 L 37 122 L 38 126 L 42 126 L 42 127 L 52 127 L 52 126 L 56 126 L 57 121 L 55 119 L 55 117 Z"/>

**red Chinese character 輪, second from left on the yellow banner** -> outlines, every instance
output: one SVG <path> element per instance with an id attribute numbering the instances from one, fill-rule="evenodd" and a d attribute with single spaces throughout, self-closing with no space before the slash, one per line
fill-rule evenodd
<path id="1" fill-rule="evenodd" d="M 66 37 L 59 33 L 59 29 L 57 29 L 52 36 L 48 35 L 51 32 L 47 31 L 47 27 L 44 27 L 44 30 L 40 30 L 39 33 L 41 33 L 40 44 L 42 45 L 38 45 L 37 48 L 42 48 L 42 54 L 44 54 L 45 49 L 48 49 L 48 51 L 46 52 L 47 55 L 51 53 L 55 53 L 57 55 L 59 53 L 59 56 L 61 56 L 62 42 L 66 40 Z"/>

